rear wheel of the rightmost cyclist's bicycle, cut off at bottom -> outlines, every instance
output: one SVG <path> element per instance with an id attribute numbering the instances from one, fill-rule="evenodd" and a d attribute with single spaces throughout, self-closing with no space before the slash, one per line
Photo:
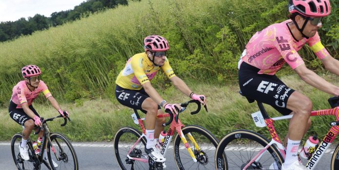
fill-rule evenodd
<path id="1" fill-rule="evenodd" d="M 232 131 L 219 142 L 215 152 L 215 166 L 221 166 L 217 160 L 226 153 L 227 165 L 225 166 L 225 170 L 242 170 L 268 143 L 269 140 L 258 133 L 249 130 Z M 249 145 L 249 147 L 247 145 Z M 252 163 L 247 170 L 269 170 L 272 168 L 281 170 L 284 159 L 279 150 L 274 145 L 271 145 L 267 148 L 267 151 L 260 161 Z"/>

